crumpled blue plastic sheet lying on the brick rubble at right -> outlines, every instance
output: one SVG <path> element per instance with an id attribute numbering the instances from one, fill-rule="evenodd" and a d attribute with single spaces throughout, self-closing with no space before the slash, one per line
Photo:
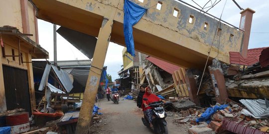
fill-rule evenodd
<path id="1" fill-rule="evenodd" d="M 217 110 L 223 110 L 226 107 L 228 107 L 228 105 L 221 105 L 221 106 L 215 105 L 215 107 L 207 108 L 206 111 L 201 115 L 201 117 L 196 119 L 196 122 L 199 123 L 202 121 L 206 121 L 209 124 L 211 120 L 211 115 L 216 113 Z"/>

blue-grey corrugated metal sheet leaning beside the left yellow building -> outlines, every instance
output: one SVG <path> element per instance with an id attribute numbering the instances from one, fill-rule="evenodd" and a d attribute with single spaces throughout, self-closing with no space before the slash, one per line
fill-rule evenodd
<path id="1" fill-rule="evenodd" d="M 73 88 L 73 84 L 72 84 L 73 82 L 71 81 L 69 74 L 61 68 L 60 70 L 58 70 L 58 68 L 53 65 L 51 67 L 53 68 L 54 72 L 58 76 L 59 80 L 61 81 L 66 91 L 70 92 Z"/>

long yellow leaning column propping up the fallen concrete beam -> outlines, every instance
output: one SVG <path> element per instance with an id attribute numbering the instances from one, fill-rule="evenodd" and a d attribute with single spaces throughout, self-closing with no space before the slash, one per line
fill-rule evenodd
<path id="1" fill-rule="evenodd" d="M 79 113 L 76 134 L 88 134 L 95 97 L 110 42 L 112 26 L 113 19 L 103 19 Z"/>

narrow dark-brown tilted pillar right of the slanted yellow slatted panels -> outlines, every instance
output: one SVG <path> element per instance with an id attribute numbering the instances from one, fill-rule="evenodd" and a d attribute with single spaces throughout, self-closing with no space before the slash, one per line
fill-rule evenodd
<path id="1" fill-rule="evenodd" d="M 188 87 L 190 100 L 194 102 L 197 106 L 200 106 L 201 104 L 200 104 L 199 96 L 197 95 L 198 88 L 196 85 L 196 80 L 193 76 L 193 73 L 189 69 L 186 70 L 185 80 Z"/>

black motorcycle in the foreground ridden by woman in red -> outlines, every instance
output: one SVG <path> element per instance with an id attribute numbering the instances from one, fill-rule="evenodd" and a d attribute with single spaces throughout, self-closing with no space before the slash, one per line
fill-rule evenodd
<path id="1" fill-rule="evenodd" d="M 147 98 L 143 98 L 143 100 L 147 100 Z M 149 103 L 148 106 L 151 107 L 152 111 L 153 111 L 153 115 L 152 115 L 152 125 L 153 125 L 153 133 L 154 134 L 168 134 L 168 128 L 167 128 L 167 122 L 165 121 L 165 118 L 167 117 L 164 108 L 162 107 L 164 104 L 162 101 L 160 102 L 152 102 Z M 146 107 L 148 107 L 146 106 Z M 146 118 L 146 116 L 144 115 L 144 117 L 142 117 L 142 122 L 144 124 L 144 126 L 146 126 L 147 128 L 149 127 L 149 122 Z"/>

